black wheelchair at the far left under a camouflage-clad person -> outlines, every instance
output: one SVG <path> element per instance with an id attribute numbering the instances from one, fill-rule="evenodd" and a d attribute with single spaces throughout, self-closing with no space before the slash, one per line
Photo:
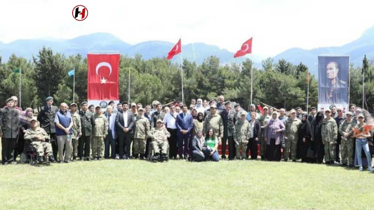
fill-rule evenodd
<path id="1" fill-rule="evenodd" d="M 40 162 L 39 154 L 33 146 L 31 140 L 25 140 L 24 151 L 20 155 L 19 163 L 29 163 L 31 166 L 49 166 L 50 162 L 47 160 L 46 154 L 44 154 L 44 162 Z"/>

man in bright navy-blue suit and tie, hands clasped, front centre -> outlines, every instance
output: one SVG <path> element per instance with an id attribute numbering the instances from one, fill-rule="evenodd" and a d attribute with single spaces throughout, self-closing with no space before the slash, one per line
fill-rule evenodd
<path id="1" fill-rule="evenodd" d="M 193 128 L 193 118 L 191 114 L 187 113 L 187 105 L 183 105 L 182 108 L 183 112 L 178 114 L 177 119 L 175 120 L 178 136 L 178 155 L 179 159 L 183 159 L 182 152 L 184 152 L 184 159 L 187 159 L 188 139 L 190 138 L 191 129 Z"/>

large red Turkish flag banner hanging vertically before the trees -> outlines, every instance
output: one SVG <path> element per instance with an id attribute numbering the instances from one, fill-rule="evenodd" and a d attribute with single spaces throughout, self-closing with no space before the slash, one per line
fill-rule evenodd
<path id="1" fill-rule="evenodd" d="M 119 54 L 87 54 L 87 99 L 119 100 Z"/>

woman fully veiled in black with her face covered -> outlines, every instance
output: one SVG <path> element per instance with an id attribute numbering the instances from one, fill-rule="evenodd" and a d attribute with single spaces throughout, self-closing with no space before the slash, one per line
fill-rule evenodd
<path id="1" fill-rule="evenodd" d="M 321 127 L 324 119 L 324 112 L 317 112 L 312 122 L 312 148 L 314 152 L 315 163 L 322 164 L 325 156 L 325 147 L 322 143 Z"/>

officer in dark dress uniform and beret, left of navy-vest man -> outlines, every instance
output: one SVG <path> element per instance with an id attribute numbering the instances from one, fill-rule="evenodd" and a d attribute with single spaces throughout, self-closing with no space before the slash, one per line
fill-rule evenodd
<path id="1" fill-rule="evenodd" d="M 57 106 L 53 106 L 53 98 L 51 96 L 46 98 L 46 105 L 40 109 L 37 120 L 47 134 L 49 134 L 50 143 L 52 144 L 53 157 L 57 160 L 57 141 L 56 141 L 56 127 L 55 114 L 58 112 Z"/>

